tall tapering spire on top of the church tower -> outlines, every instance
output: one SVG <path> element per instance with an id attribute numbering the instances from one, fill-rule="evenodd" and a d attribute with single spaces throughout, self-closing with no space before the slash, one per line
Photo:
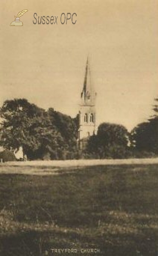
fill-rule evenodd
<path id="1" fill-rule="evenodd" d="M 81 93 L 81 99 L 85 105 L 95 104 L 95 91 L 92 84 L 89 57 L 87 57 L 87 62 L 86 62 L 86 72 L 84 77 L 83 90 Z"/>

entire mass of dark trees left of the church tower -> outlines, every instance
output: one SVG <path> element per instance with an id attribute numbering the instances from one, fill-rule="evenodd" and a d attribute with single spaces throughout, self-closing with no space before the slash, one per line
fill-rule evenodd
<path id="1" fill-rule="evenodd" d="M 7 100 L 0 116 L 0 145 L 13 150 L 22 146 L 29 159 L 66 158 L 76 147 L 74 120 L 52 108 L 45 111 L 26 99 Z"/>

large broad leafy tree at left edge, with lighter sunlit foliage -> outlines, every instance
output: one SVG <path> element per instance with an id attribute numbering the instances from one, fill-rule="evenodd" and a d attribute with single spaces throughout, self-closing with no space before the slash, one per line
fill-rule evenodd
<path id="1" fill-rule="evenodd" d="M 33 159 L 41 156 L 50 144 L 53 150 L 57 140 L 61 140 L 46 111 L 26 99 L 5 101 L 0 116 L 3 120 L 0 144 L 4 148 L 14 150 L 22 146 L 24 154 Z"/>

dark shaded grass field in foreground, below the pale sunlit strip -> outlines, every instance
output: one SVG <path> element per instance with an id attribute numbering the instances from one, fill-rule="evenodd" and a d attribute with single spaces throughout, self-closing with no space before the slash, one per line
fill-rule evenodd
<path id="1" fill-rule="evenodd" d="M 0 256 L 158 255 L 158 165 L 53 168 L 0 166 Z"/>

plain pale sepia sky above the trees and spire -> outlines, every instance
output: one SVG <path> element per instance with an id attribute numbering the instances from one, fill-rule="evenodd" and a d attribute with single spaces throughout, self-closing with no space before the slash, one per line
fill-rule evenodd
<path id="1" fill-rule="evenodd" d="M 76 116 L 89 55 L 97 124 L 131 130 L 153 114 L 158 96 L 157 0 L 1 0 L 0 106 L 26 98 Z M 9 26 L 28 9 L 23 26 Z M 33 24 L 58 16 L 57 24 Z M 60 15 L 76 13 L 76 23 Z M 75 16 L 74 16 L 75 17 Z M 35 21 L 35 20 L 34 20 Z"/>

